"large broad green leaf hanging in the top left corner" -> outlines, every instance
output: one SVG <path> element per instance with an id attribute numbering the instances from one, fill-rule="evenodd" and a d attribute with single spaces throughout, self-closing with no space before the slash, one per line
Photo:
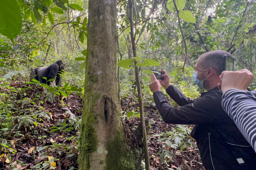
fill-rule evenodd
<path id="1" fill-rule="evenodd" d="M 12 41 L 21 32 L 21 10 L 16 0 L 0 0 L 0 34 Z"/>

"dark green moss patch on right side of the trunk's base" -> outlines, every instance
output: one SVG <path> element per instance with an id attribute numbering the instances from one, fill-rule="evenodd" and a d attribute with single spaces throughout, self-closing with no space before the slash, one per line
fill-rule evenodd
<path id="1" fill-rule="evenodd" d="M 137 149 L 132 149 L 118 132 L 112 142 L 107 143 L 106 170 L 135 170 L 140 157 Z"/>

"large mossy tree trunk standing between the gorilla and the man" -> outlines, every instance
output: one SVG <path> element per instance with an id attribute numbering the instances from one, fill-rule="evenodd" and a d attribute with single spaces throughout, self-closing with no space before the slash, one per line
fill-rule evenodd
<path id="1" fill-rule="evenodd" d="M 133 170 L 138 164 L 138 152 L 131 151 L 121 130 L 114 44 L 116 3 L 89 0 L 79 170 Z"/>

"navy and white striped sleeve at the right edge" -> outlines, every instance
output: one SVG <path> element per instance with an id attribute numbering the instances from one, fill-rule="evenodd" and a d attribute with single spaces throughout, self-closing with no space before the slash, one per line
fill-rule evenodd
<path id="1" fill-rule="evenodd" d="M 222 107 L 256 152 L 256 97 L 253 94 L 230 89 L 222 96 Z"/>

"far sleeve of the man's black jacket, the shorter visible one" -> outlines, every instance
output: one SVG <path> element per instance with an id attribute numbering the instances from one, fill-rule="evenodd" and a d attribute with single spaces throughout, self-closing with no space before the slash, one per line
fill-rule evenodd
<path id="1" fill-rule="evenodd" d="M 193 103 L 195 100 L 186 97 L 182 94 L 178 89 L 176 89 L 173 85 L 170 85 L 166 89 L 166 93 L 174 100 L 179 106 L 184 106 L 190 103 Z"/>

